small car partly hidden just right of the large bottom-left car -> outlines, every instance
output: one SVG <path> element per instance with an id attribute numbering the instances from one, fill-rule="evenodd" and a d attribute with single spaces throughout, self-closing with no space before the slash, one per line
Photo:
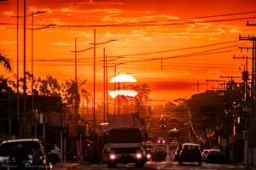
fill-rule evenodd
<path id="1" fill-rule="evenodd" d="M 61 160 L 61 150 L 57 144 L 45 144 L 45 150 L 47 152 L 48 159 L 53 164 Z"/>

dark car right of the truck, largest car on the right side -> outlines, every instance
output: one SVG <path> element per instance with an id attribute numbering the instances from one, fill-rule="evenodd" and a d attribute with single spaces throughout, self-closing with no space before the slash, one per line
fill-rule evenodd
<path id="1" fill-rule="evenodd" d="M 200 144 L 184 143 L 178 157 L 178 163 L 182 164 L 183 161 L 197 161 L 198 165 L 201 165 Z"/>

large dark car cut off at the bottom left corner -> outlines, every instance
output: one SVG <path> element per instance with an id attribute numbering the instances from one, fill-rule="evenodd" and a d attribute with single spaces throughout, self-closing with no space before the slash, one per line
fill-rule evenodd
<path id="1" fill-rule="evenodd" d="M 1 167 L 17 167 L 17 169 L 35 168 L 51 169 L 50 161 L 39 139 L 10 139 L 0 144 Z M 0 168 L 1 169 L 1 168 Z"/>

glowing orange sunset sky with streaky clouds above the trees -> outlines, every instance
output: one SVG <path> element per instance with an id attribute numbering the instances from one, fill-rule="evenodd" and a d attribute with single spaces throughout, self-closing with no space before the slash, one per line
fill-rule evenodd
<path id="1" fill-rule="evenodd" d="M 160 102 L 189 98 L 218 86 L 206 86 L 207 79 L 240 76 L 239 67 L 243 69 L 245 61 L 233 59 L 233 55 L 250 56 L 250 51 L 240 51 L 238 47 L 250 47 L 251 42 L 238 41 L 239 35 L 256 34 L 255 26 L 246 26 L 247 20 L 256 23 L 254 0 L 27 0 L 26 9 L 27 14 L 36 10 L 47 12 L 34 16 L 34 28 L 55 24 L 33 31 L 36 77 L 49 74 L 60 82 L 73 78 L 71 51 L 75 37 L 78 50 L 90 48 L 96 29 L 96 42 L 116 40 L 96 48 L 97 91 L 102 91 L 102 55 L 106 48 L 109 80 L 114 75 L 113 65 L 117 65 L 117 74 L 131 74 L 138 82 L 148 83 L 152 89 L 150 97 Z M 0 49 L 9 55 L 14 73 L 16 19 L 11 16 L 16 14 L 16 0 L 0 0 Z M 31 28 L 31 17 L 27 17 L 26 24 Z M 19 27 L 23 76 L 23 19 Z M 26 31 L 27 71 L 31 71 L 31 32 Z M 87 88 L 92 92 L 93 50 L 77 56 L 79 79 L 87 79 Z M 101 94 L 97 95 L 96 99 L 102 99 Z"/>

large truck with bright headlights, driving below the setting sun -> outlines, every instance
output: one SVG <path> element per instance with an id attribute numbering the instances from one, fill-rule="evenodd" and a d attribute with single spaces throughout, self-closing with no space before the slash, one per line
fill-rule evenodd
<path id="1" fill-rule="evenodd" d="M 144 167 L 147 156 L 143 149 L 145 137 L 142 124 L 133 116 L 112 118 L 115 120 L 110 119 L 109 124 L 102 128 L 104 141 L 102 154 L 108 168 L 114 168 L 119 163 L 135 163 L 135 167 Z M 124 119 L 124 122 L 120 122 L 120 119 Z"/>

